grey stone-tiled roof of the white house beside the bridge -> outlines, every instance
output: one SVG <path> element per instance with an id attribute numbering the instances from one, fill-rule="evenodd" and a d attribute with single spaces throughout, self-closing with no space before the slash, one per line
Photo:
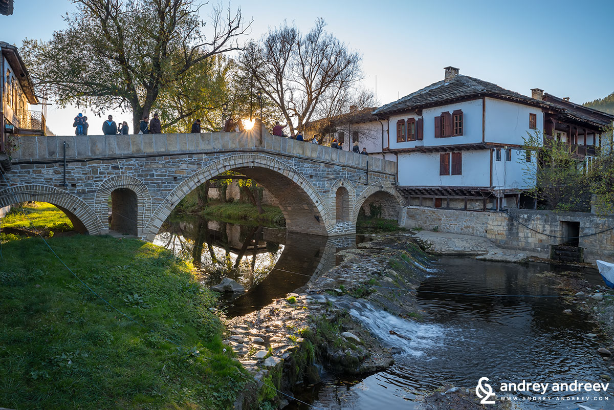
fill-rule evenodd
<path id="1" fill-rule="evenodd" d="M 415 91 L 410 95 L 386 104 L 373 111 L 374 115 L 389 115 L 396 112 L 406 112 L 424 107 L 439 106 L 451 103 L 456 99 L 478 96 L 497 96 L 499 98 L 521 101 L 538 107 L 550 108 L 538 99 L 530 98 L 515 91 L 506 90 L 494 83 L 469 77 L 468 75 L 456 75 L 449 82 L 438 81 Z"/>

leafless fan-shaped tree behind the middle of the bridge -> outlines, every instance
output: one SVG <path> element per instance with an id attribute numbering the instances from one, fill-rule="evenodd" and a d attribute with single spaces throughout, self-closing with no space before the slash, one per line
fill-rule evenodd
<path id="1" fill-rule="evenodd" d="M 241 67 L 278 107 L 291 136 L 312 118 L 343 106 L 341 99 L 362 79 L 361 56 L 324 27 L 320 18 L 303 34 L 284 21 L 241 55 Z"/>

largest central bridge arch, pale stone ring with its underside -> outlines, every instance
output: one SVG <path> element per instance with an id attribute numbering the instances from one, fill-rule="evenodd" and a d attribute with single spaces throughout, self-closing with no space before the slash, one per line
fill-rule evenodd
<path id="1" fill-rule="evenodd" d="M 162 223 L 181 199 L 206 180 L 226 171 L 241 172 L 281 199 L 279 207 L 286 218 L 289 231 L 324 236 L 333 233 L 335 221 L 327 212 L 327 201 L 305 176 L 278 158 L 249 153 L 220 158 L 187 177 L 153 211 L 142 236 L 147 241 L 153 241 Z"/>

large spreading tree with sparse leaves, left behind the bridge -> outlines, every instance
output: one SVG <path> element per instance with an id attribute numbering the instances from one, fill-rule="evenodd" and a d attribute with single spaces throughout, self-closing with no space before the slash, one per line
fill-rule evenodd
<path id="1" fill-rule="evenodd" d="M 158 96 L 211 56 L 238 50 L 241 10 L 213 7 L 209 36 L 199 0 L 74 0 L 67 28 L 21 48 L 34 80 L 61 106 L 133 112 L 133 129 Z"/>

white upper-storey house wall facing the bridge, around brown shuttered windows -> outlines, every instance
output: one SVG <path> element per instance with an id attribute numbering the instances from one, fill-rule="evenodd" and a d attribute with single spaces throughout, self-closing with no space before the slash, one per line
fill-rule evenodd
<path id="1" fill-rule="evenodd" d="M 463 134 L 457 137 L 435 138 L 435 117 L 439 117 L 442 112 L 452 113 L 454 110 L 463 112 Z M 424 120 L 424 140 L 397 142 L 397 121 L 407 120 L 407 118 L 422 118 Z M 454 144 L 475 144 L 482 142 L 482 100 L 463 101 L 462 103 L 448 104 L 434 108 L 422 110 L 422 117 L 415 112 L 403 115 L 394 115 L 388 121 L 390 129 L 390 147 L 412 148 L 416 146 L 432 145 L 454 145 Z"/>

